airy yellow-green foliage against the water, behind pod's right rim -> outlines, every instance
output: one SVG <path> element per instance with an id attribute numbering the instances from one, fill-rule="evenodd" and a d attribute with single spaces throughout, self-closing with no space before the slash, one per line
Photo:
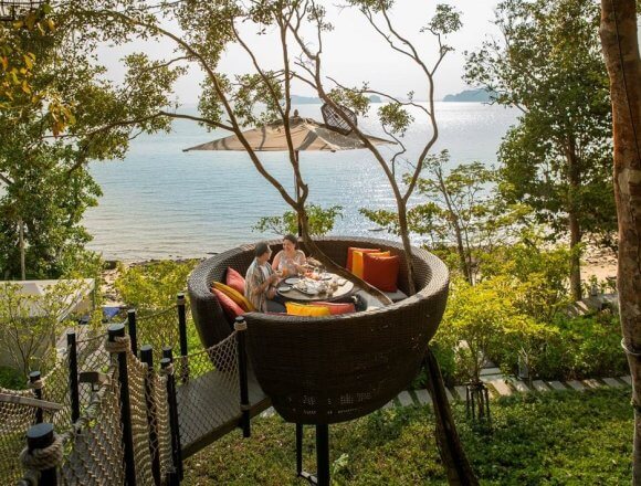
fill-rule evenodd
<path id="1" fill-rule="evenodd" d="M 474 284 L 481 278 L 482 255 L 507 241 L 529 210 L 521 204 L 504 203 L 496 193 L 496 170 L 472 162 L 446 171 L 449 161 L 448 150 L 427 157 L 428 177 L 420 178 L 417 183 L 419 194 L 427 202 L 410 208 L 408 226 L 412 233 L 428 236 L 430 249 L 441 251 L 465 279 Z M 410 175 L 404 179 L 409 183 Z M 399 233 L 396 212 L 361 208 L 360 213 L 389 232 Z M 450 246 L 455 251 L 446 252 Z"/>

